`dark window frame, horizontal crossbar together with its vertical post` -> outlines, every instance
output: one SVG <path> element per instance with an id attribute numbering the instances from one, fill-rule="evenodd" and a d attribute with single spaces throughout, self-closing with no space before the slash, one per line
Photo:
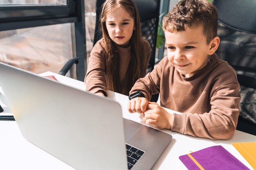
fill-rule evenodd
<path id="1" fill-rule="evenodd" d="M 36 26 L 74 23 L 75 51 L 80 57 L 78 79 L 86 73 L 86 37 L 84 0 L 67 0 L 66 5 L 0 5 L 0 31 Z"/>

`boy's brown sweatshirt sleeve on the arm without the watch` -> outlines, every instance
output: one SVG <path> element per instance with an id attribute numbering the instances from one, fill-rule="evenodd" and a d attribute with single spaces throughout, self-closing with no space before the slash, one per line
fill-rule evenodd
<path id="1" fill-rule="evenodd" d="M 235 133 L 239 115 L 239 88 L 238 82 L 218 88 L 213 86 L 209 113 L 174 114 L 171 130 L 195 137 L 231 138 Z"/>

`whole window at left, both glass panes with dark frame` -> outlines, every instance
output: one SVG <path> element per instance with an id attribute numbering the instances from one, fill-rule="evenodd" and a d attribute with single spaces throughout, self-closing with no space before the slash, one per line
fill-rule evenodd
<path id="1" fill-rule="evenodd" d="M 80 57 L 83 81 L 85 42 L 84 0 L 0 1 L 0 60 L 42 73 L 58 72 L 70 57 Z"/>

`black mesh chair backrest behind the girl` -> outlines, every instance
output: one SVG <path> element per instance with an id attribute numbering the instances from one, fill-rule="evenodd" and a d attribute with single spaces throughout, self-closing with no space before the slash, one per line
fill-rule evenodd
<path id="1" fill-rule="evenodd" d="M 96 0 L 96 24 L 93 45 L 102 38 L 100 26 L 101 6 L 106 0 Z M 139 10 L 142 36 L 151 46 L 151 56 L 148 70 L 152 71 L 155 65 L 155 49 L 157 43 L 157 28 L 159 22 L 160 0 L 134 0 Z"/>

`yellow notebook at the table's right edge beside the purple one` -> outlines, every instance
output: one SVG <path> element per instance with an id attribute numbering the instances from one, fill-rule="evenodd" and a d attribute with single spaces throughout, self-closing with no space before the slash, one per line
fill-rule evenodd
<path id="1" fill-rule="evenodd" d="M 256 142 L 232 143 L 245 160 L 256 170 Z"/>

